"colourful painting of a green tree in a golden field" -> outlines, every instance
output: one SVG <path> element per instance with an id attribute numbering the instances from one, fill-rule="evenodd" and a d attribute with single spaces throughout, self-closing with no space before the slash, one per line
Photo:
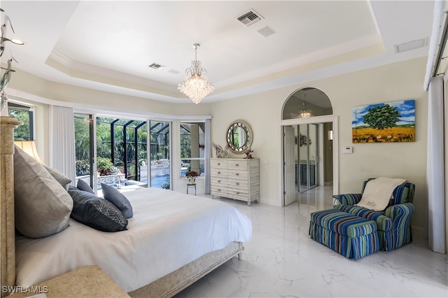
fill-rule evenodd
<path id="1" fill-rule="evenodd" d="M 353 143 L 415 141 L 415 100 L 355 106 L 351 121 Z"/>

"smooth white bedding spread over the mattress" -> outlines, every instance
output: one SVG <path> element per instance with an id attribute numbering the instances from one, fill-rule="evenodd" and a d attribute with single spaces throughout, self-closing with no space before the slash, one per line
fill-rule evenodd
<path id="1" fill-rule="evenodd" d="M 124 194 L 134 209 L 127 231 L 100 232 L 71 219 L 58 234 L 18 237 L 17 285 L 97 264 L 130 292 L 232 241 L 251 239 L 251 220 L 222 201 L 158 188 Z"/>

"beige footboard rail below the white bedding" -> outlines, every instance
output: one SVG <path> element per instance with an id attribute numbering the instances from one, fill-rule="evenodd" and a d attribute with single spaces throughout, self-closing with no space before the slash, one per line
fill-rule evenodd
<path id="1" fill-rule="evenodd" d="M 232 242 L 222 250 L 207 253 L 171 274 L 128 294 L 131 297 L 173 297 L 188 285 L 195 283 L 221 264 L 239 255 L 242 250 L 244 250 L 244 246 L 241 242 Z"/>

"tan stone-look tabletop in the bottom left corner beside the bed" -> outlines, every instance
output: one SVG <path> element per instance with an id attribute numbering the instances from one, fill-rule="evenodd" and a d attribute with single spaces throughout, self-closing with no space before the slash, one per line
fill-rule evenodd
<path id="1" fill-rule="evenodd" d="M 32 287 L 17 287 L 9 297 L 130 297 L 97 265 L 80 267 Z M 32 290 L 32 292 L 30 292 Z"/>

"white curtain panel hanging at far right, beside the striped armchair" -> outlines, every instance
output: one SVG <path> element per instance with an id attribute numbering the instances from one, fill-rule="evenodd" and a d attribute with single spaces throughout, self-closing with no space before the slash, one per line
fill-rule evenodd
<path id="1" fill-rule="evenodd" d="M 428 186 L 429 246 L 436 253 L 446 253 L 443 101 L 443 78 L 431 78 L 428 90 L 426 184 Z"/>

